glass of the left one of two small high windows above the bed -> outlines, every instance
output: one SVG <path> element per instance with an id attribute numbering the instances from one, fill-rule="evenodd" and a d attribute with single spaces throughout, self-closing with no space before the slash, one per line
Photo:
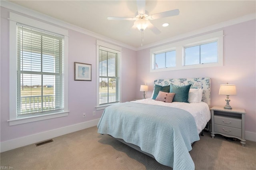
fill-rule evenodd
<path id="1" fill-rule="evenodd" d="M 175 67 L 176 51 L 167 51 L 155 54 L 155 69 Z"/>

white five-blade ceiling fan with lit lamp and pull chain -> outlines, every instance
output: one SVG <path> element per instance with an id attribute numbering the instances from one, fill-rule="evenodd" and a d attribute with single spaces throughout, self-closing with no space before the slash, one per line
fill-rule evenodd
<path id="1" fill-rule="evenodd" d="M 138 15 L 135 17 L 108 17 L 108 20 L 135 20 L 134 26 L 132 28 L 138 28 L 142 32 L 142 41 L 143 41 L 143 32 L 146 28 L 149 28 L 155 34 L 160 34 L 160 30 L 156 28 L 149 20 L 156 20 L 158 18 L 165 18 L 170 16 L 176 16 L 180 14 L 180 10 L 170 10 L 165 12 L 160 12 L 157 14 L 147 15 L 146 10 L 146 0 L 137 0 Z"/>

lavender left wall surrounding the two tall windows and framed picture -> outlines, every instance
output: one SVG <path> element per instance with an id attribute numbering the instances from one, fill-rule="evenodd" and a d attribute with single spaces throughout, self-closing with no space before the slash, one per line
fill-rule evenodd
<path id="1" fill-rule="evenodd" d="M 68 107 L 69 115 L 55 119 L 9 126 L 9 12 L 1 7 L 1 142 L 56 128 L 99 119 L 96 111 L 96 38 L 69 30 L 68 42 Z M 74 81 L 74 62 L 92 64 L 92 81 Z M 122 47 L 122 101 L 136 95 L 136 51 Z M 15 102 L 15 101 L 14 101 Z M 92 112 L 96 111 L 96 116 Z M 86 118 L 82 118 L 86 113 Z"/>

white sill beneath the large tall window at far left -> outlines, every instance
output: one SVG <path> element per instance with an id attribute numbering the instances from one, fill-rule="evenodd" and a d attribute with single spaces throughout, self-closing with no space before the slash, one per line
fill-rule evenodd
<path id="1" fill-rule="evenodd" d="M 64 117 L 68 116 L 69 111 L 64 111 L 64 112 L 59 112 L 59 113 L 52 113 L 52 114 L 47 114 L 47 115 L 38 115 L 38 116 L 33 116 L 33 117 L 22 117 L 22 118 L 17 118 L 14 120 L 9 120 L 9 126 L 12 125 L 20 125 L 23 123 L 29 123 L 29 122 L 35 122 L 35 121 L 42 121 L 46 119 L 53 119 L 57 117 Z"/>

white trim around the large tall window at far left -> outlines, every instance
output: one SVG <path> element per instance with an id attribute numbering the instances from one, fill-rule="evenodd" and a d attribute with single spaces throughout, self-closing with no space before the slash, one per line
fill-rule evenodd
<path id="1" fill-rule="evenodd" d="M 10 12 L 10 68 L 9 68 L 9 125 L 19 125 L 22 123 L 29 123 L 34 121 L 41 121 L 52 119 L 56 117 L 68 116 L 68 30 L 34 20 L 25 16 L 21 16 Z M 64 35 L 64 111 L 58 113 L 51 113 L 47 115 L 36 115 L 29 117 L 17 118 L 17 22 L 33 26 L 40 29 L 55 32 Z"/>

